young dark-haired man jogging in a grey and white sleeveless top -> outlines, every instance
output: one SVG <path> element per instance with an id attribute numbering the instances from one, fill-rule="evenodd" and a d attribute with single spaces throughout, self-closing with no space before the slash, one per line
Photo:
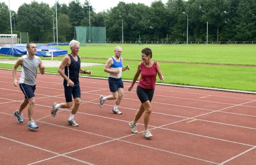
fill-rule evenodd
<path id="1" fill-rule="evenodd" d="M 25 95 L 25 99 L 20 104 L 18 110 L 14 111 L 13 114 L 17 117 L 20 123 L 23 123 L 22 110 L 28 105 L 28 128 L 37 129 L 36 122 L 32 119 L 35 94 L 36 90 L 36 76 L 37 69 L 39 67 L 40 74 L 44 74 L 45 66 L 42 64 L 42 60 L 36 55 L 36 44 L 28 43 L 27 46 L 28 54 L 19 58 L 12 68 L 12 77 L 14 86 L 20 86 L 20 89 Z M 17 68 L 21 66 L 20 80 L 16 78 Z M 18 84 L 18 85 L 17 85 Z"/>

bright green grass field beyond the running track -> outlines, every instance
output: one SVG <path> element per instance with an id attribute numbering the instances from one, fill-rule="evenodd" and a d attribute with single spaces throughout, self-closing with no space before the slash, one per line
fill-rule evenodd
<path id="1" fill-rule="evenodd" d="M 81 47 L 79 55 L 82 62 L 105 64 L 114 55 L 117 45 Z M 152 49 L 152 60 L 160 63 L 165 83 L 192 85 L 202 87 L 217 87 L 256 91 L 256 46 L 186 46 L 186 45 L 121 45 L 124 65 L 131 70 L 122 73 L 122 79 L 132 80 L 138 64 L 141 62 L 140 51 L 149 47 Z M 59 46 L 68 50 L 68 46 Z M 0 57 L 17 59 L 18 57 Z M 51 60 L 41 57 L 42 60 Z M 62 60 L 62 57 L 54 57 Z M 225 65 L 225 64 L 228 64 Z M 0 64 L 0 68 L 12 68 L 10 64 Z M 107 78 L 103 72 L 104 66 L 91 66 L 92 76 Z M 46 72 L 57 73 L 57 68 L 47 68 Z M 157 82 L 161 82 L 157 78 Z"/>

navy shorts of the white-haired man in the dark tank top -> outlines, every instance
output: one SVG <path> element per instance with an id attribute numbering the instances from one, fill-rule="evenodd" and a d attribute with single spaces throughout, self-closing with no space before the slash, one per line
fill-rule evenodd
<path id="1" fill-rule="evenodd" d="M 73 95 L 73 98 L 77 98 L 77 97 L 81 98 L 80 85 L 76 85 L 74 87 L 64 85 L 64 93 L 65 93 L 65 98 L 67 103 L 72 102 L 72 95 Z"/>

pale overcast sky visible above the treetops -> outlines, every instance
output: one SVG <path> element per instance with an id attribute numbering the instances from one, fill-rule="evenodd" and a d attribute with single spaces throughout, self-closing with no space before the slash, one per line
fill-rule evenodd
<path id="1" fill-rule="evenodd" d="M 9 1 L 10 1 L 11 10 L 14 10 L 17 12 L 19 6 L 21 6 L 23 3 L 30 4 L 33 0 L 1 0 L 1 2 L 5 2 L 7 6 L 9 6 Z M 34 0 L 34 1 L 38 3 L 44 2 L 46 4 L 49 4 L 50 7 L 54 6 L 55 4 L 55 0 Z M 119 1 L 125 2 L 126 4 L 133 2 L 135 4 L 142 3 L 147 6 L 150 6 L 150 4 L 156 0 L 90 0 L 90 3 L 92 7 L 95 9 L 95 12 L 98 13 L 103 10 L 107 10 L 117 6 Z M 60 4 L 65 3 L 68 5 L 68 2 L 70 2 L 70 0 L 58 0 L 58 2 Z M 162 2 L 166 4 L 167 0 L 162 0 Z M 84 0 L 80 0 L 80 3 L 84 4 Z"/>

